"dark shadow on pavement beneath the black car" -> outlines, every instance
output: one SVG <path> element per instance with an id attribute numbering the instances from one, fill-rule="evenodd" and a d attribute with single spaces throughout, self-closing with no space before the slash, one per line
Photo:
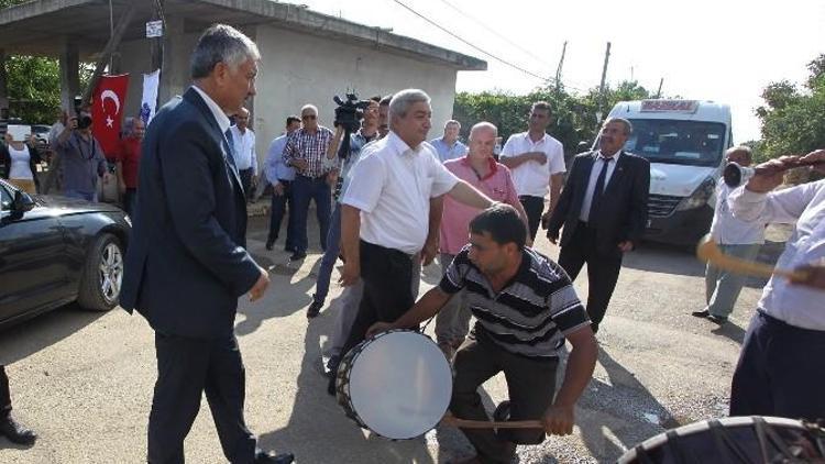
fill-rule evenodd
<path id="1" fill-rule="evenodd" d="M 112 311 L 122 311 L 116 307 Z M 0 332 L 0 364 L 8 365 L 72 336 L 106 312 L 66 305 Z M 12 380 L 13 382 L 13 380 Z"/>

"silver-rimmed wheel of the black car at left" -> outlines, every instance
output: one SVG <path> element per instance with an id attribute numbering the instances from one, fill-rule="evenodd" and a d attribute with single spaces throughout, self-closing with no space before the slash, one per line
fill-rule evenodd
<path id="1" fill-rule="evenodd" d="M 77 302 L 92 311 L 108 311 L 118 305 L 123 281 L 123 247 L 117 236 L 105 233 L 91 245 Z"/>

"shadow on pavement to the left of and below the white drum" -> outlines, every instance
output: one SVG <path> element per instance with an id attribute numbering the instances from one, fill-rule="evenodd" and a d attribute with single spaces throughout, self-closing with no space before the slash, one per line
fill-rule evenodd
<path id="1" fill-rule="evenodd" d="M 318 341 L 330 332 L 333 319 L 319 318 L 309 323 L 292 416 L 284 428 L 262 434 L 261 446 L 293 452 L 296 461 L 304 463 L 435 464 L 425 438 L 389 441 L 363 431 L 327 394 Z"/>

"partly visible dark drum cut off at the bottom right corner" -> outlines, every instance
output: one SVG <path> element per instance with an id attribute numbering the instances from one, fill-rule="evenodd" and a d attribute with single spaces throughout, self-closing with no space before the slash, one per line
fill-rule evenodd
<path id="1" fill-rule="evenodd" d="M 825 463 L 825 429 L 773 417 L 713 419 L 648 439 L 618 464 Z"/>

